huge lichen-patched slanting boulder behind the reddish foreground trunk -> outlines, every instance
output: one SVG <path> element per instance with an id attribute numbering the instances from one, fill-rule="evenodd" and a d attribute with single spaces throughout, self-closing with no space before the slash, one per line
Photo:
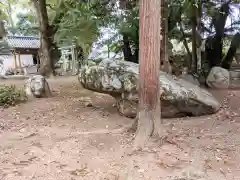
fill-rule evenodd
<path id="1" fill-rule="evenodd" d="M 105 60 L 97 66 L 83 67 L 78 79 L 86 89 L 113 96 L 121 114 L 135 117 L 138 75 L 138 64 Z M 220 108 L 218 101 L 209 92 L 184 79 L 160 72 L 159 81 L 162 117 L 207 115 Z"/>

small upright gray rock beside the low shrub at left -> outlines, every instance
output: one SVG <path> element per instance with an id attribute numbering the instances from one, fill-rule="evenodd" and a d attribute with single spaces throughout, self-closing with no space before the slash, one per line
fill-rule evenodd
<path id="1" fill-rule="evenodd" d="M 28 97 L 41 98 L 52 96 L 49 84 L 42 75 L 34 75 L 27 79 L 24 88 Z"/>

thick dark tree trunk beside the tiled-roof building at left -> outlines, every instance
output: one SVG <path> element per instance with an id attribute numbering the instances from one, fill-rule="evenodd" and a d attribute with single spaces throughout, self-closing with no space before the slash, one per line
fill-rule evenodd
<path id="1" fill-rule="evenodd" d="M 49 25 L 46 0 L 33 0 L 36 9 L 39 29 L 40 29 L 40 43 L 41 43 L 41 60 L 39 72 L 44 76 L 55 75 L 54 72 L 54 50 L 53 43 L 54 30 Z"/>

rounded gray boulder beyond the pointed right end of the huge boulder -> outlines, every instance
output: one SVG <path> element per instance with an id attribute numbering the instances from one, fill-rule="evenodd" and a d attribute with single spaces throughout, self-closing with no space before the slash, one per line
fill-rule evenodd
<path id="1" fill-rule="evenodd" d="M 211 88 L 226 89 L 230 86 L 230 73 L 228 70 L 215 66 L 211 69 L 206 79 Z"/>

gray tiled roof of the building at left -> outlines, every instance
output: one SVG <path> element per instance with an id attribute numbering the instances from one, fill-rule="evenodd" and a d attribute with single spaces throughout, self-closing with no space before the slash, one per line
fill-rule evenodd
<path id="1" fill-rule="evenodd" d="M 40 40 L 31 36 L 7 36 L 6 42 L 11 48 L 39 49 Z"/>

